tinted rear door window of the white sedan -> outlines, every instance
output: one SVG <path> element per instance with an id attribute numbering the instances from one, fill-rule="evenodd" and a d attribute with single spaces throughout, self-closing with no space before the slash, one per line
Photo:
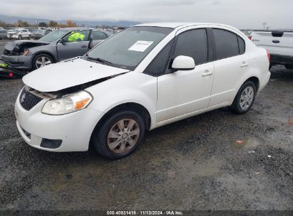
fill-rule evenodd
<path id="1" fill-rule="evenodd" d="M 216 47 L 216 59 L 239 55 L 237 35 L 222 29 L 213 29 Z"/>

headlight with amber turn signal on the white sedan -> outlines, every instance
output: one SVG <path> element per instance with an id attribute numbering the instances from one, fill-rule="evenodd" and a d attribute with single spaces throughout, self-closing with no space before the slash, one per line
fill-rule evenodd
<path id="1" fill-rule="evenodd" d="M 93 97 L 90 93 L 81 91 L 72 95 L 65 95 L 59 99 L 49 99 L 43 105 L 42 113 L 51 115 L 68 114 L 84 109 L 91 103 Z"/>

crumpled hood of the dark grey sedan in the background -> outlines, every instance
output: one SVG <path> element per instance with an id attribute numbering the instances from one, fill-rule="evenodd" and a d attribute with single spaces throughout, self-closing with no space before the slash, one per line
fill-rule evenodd
<path id="1" fill-rule="evenodd" d="M 33 48 L 40 45 L 48 45 L 50 42 L 46 41 L 31 41 L 31 40 L 20 40 L 20 41 L 12 41 L 7 43 L 4 48 L 9 51 L 21 51 L 29 48 Z"/>

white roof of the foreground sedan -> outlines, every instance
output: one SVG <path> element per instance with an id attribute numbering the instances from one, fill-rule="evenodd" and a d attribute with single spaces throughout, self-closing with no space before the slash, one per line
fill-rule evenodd
<path id="1" fill-rule="evenodd" d="M 188 22 L 175 22 L 175 23 L 143 23 L 143 24 L 138 24 L 135 26 L 152 26 L 152 27 L 165 27 L 165 28 L 184 28 L 187 26 L 198 26 L 198 25 L 217 25 L 217 26 L 227 26 L 225 24 L 220 24 L 220 23 L 188 23 Z"/>

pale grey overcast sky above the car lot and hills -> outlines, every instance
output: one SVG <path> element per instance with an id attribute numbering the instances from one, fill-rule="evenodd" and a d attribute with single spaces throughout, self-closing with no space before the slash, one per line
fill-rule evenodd
<path id="1" fill-rule="evenodd" d="M 293 28 L 293 0 L 0 0 L 2 15 L 82 21 L 191 21 Z"/>

